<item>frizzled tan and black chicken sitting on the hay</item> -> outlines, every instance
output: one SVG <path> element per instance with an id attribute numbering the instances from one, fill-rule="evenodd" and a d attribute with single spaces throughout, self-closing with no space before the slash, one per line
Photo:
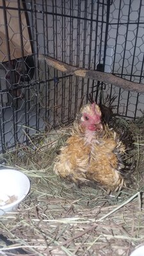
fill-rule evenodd
<path id="1" fill-rule="evenodd" d="M 60 150 L 54 172 L 76 183 L 95 181 L 107 191 L 118 191 L 125 186 L 125 146 L 118 134 L 102 124 L 102 113 L 94 102 L 80 110 L 72 127 L 71 136 Z"/>

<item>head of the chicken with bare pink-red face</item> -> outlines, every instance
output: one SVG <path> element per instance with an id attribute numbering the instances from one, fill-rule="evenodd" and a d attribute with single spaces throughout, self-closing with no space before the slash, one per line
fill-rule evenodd
<path id="1" fill-rule="evenodd" d="M 101 111 L 94 102 L 81 108 L 81 124 L 89 131 L 99 131 L 102 129 Z"/>

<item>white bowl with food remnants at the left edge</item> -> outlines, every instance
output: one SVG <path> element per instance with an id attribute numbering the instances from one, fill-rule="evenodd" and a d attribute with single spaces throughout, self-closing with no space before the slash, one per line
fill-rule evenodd
<path id="1" fill-rule="evenodd" d="M 0 215 L 5 212 L 13 211 L 17 205 L 28 195 L 30 189 L 30 181 L 28 177 L 17 170 L 1 169 L 0 170 L 0 202 L 4 202 L 13 196 L 12 202 L 8 200 L 8 204 L 0 204 Z M 5 200 L 4 200 L 5 198 Z"/>

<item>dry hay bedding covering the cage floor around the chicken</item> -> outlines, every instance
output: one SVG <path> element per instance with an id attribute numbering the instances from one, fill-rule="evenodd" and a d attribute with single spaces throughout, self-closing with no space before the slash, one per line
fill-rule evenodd
<path id="1" fill-rule="evenodd" d="M 133 132 L 136 145 L 132 185 L 122 192 L 106 195 L 100 188 L 77 188 L 54 175 L 54 157 L 69 127 L 35 134 L 31 145 L 17 145 L 1 156 L 31 180 L 19 209 L 1 216 L 0 233 L 13 243 L 1 243 L 1 255 L 17 255 L 15 249 L 21 248 L 26 255 L 128 256 L 143 244 L 143 118 L 117 122 Z"/>

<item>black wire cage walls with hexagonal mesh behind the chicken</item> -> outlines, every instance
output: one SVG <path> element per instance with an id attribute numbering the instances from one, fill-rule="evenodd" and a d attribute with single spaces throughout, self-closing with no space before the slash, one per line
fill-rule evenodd
<path id="1" fill-rule="evenodd" d="M 143 13 L 142 0 L 0 0 L 1 152 L 70 123 L 89 93 L 115 95 L 120 116 L 142 115 L 143 94 L 69 76 L 38 54 L 143 83 Z"/>

